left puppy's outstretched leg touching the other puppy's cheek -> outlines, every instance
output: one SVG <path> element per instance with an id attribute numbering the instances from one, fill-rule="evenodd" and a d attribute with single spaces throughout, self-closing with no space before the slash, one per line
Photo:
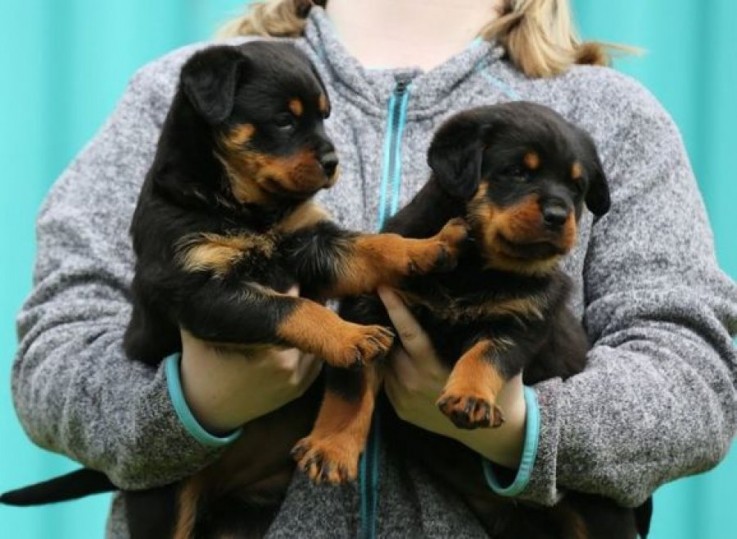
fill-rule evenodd
<path id="1" fill-rule="evenodd" d="M 353 234 L 320 223 L 287 238 L 283 252 L 300 283 L 321 295 L 365 294 L 379 285 L 397 285 L 409 275 L 455 266 L 467 236 L 462 219 L 453 219 L 436 235 L 409 239 L 398 234 Z"/>

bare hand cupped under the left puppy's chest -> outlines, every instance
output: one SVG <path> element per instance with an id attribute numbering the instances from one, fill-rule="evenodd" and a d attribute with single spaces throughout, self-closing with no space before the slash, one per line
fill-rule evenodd
<path id="1" fill-rule="evenodd" d="M 289 295 L 297 296 L 296 288 Z M 216 348 L 181 330 L 182 391 L 197 421 L 225 434 L 300 397 L 322 362 L 296 348 L 254 353 Z"/>

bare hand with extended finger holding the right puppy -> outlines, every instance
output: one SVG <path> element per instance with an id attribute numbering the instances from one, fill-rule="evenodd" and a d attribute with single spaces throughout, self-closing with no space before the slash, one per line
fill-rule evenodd
<path id="1" fill-rule="evenodd" d="M 420 428 L 453 438 L 497 464 L 517 467 L 526 417 L 522 375 L 509 380 L 497 396 L 496 403 L 505 417 L 500 427 L 457 428 L 436 404 L 450 371 L 440 362 L 430 338 L 400 297 L 387 288 L 380 288 L 378 293 L 402 342 L 384 376 L 384 388 L 397 415 Z"/>

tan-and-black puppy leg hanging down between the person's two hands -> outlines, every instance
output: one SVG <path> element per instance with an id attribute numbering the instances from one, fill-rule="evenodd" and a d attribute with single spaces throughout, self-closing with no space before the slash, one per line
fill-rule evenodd
<path id="1" fill-rule="evenodd" d="M 326 383 L 315 427 L 292 455 L 313 481 L 340 484 L 358 476 L 380 380 L 376 365 L 360 371 L 328 367 Z"/>

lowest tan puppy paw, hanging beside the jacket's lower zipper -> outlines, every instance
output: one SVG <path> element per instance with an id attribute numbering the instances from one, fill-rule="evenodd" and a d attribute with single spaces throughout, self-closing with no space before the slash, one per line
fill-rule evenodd
<path id="1" fill-rule="evenodd" d="M 340 485 L 355 481 L 360 451 L 347 438 L 336 435 L 328 439 L 311 434 L 297 442 L 292 457 L 315 483 Z"/>

